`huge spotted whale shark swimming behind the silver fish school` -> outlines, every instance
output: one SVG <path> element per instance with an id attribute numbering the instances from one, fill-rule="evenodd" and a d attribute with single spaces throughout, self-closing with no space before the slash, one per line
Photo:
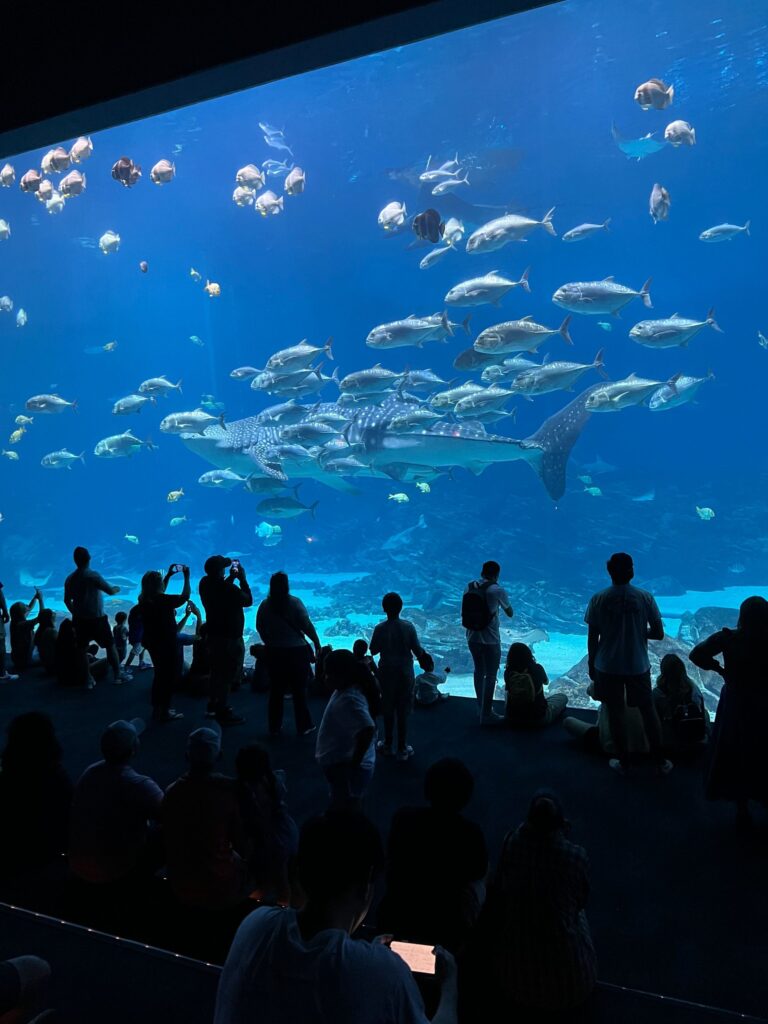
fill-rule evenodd
<path id="1" fill-rule="evenodd" d="M 355 478 L 373 476 L 408 482 L 434 478 L 453 469 L 479 474 L 488 466 L 519 461 L 527 463 L 550 498 L 559 501 L 565 493 L 568 456 L 591 416 L 587 398 L 598 386 L 587 388 L 545 420 L 536 433 L 521 439 L 488 433 L 480 423 L 449 420 L 412 433 L 392 430 L 392 421 L 413 409 L 414 399 L 404 395 L 352 410 L 351 414 L 348 406 L 335 402 L 307 407 L 306 419 L 332 412 L 349 417 L 344 436 L 365 466 Z M 275 454 L 284 443 L 281 428 L 259 416 L 232 420 L 226 427 L 209 426 L 202 434 L 180 436 L 190 451 L 221 469 L 288 481 Z M 314 479 L 339 490 L 356 493 L 349 480 L 327 472 L 316 459 L 291 470 L 292 480 Z"/>

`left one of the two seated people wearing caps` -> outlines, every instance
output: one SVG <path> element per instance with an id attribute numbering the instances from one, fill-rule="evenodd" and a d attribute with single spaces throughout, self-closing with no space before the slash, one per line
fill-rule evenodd
<path id="1" fill-rule="evenodd" d="M 158 866 L 150 822 L 160 818 L 163 791 L 131 767 L 143 728 L 139 718 L 108 726 L 103 760 L 86 768 L 75 786 L 69 859 L 85 882 L 137 881 Z"/>

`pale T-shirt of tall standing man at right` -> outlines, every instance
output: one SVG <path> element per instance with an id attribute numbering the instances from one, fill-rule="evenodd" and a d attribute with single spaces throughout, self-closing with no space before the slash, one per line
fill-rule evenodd
<path id="1" fill-rule="evenodd" d="M 650 670 L 648 628 L 662 630 L 662 614 L 647 590 L 632 584 L 607 587 L 590 601 L 584 621 L 597 630 L 598 672 L 639 676 Z"/>

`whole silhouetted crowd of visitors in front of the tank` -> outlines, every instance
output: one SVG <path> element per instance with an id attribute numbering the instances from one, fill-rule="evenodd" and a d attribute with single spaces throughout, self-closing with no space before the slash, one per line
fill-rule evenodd
<path id="1" fill-rule="evenodd" d="M 199 586 L 205 620 L 190 599 L 187 566 L 146 572 L 137 603 L 113 625 L 103 595 L 119 589 L 91 568 L 86 549 L 76 549 L 75 563 L 65 586 L 71 617 L 58 630 L 39 591 L 29 604 L 8 608 L 0 586 L 0 680 L 17 679 L 6 671 L 7 627 L 17 673 L 39 665 L 62 684 L 92 689 L 110 676 L 128 682 L 132 670 L 150 668 L 148 657 L 153 721 L 181 719 L 172 700 L 184 689 L 207 700 L 207 722 L 188 733 L 186 764 L 163 790 L 135 767 L 140 719 L 106 726 L 101 760 L 73 784 L 50 717 L 14 718 L 0 771 L 5 896 L 24 902 L 25 894 L 45 889 L 41 879 L 66 870 L 73 918 L 85 911 L 94 927 L 124 934 L 152 905 L 170 930 L 152 941 L 226 957 L 216 1024 L 245 1024 L 256 1007 L 270 1024 L 452 1024 L 484 1019 L 500 1005 L 519 1020 L 566 1012 L 578 1020 L 588 1012 L 597 979 L 586 916 L 589 865 L 554 793 L 532 796 L 525 819 L 493 858 L 482 829 L 465 816 L 474 778 L 458 758 L 427 769 L 424 802 L 395 813 L 386 847 L 364 816 L 377 761 L 414 756 L 415 700 L 437 708 L 445 699 L 445 673 L 435 671 L 416 628 L 401 617 L 397 594 L 383 597 L 385 617 L 370 642 L 360 638 L 352 650 L 322 646 L 283 572 L 272 575 L 259 604 L 251 688 L 266 694 L 272 737 L 290 698 L 296 732 L 312 736 L 315 770 L 328 786 L 327 809 L 299 829 L 287 807 L 285 773 L 272 768 L 266 746 L 244 743 L 236 774 L 217 771 L 222 729 L 245 721 L 229 705 L 247 678 L 245 609 L 253 596 L 243 566 L 221 555 L 206 561 Z M 585 616 L 597 723 L 571 717 L 565 728 L 587 750 L 607 754 L 624 776 L 642 770 L 642 761 L 664 776 L 673 758 L 706 752 L 707 795 L 733 802 L 738 827 L 749 828 L 750 802 L 768 803 L 768 602 L 749 598 L 735 629 L 718 631 L 689 654 L 724 680 L 713 727 L 677 654 L 662 659 L 651 685 L 648 643 L 664 637 L 658 608 L 632 585 L 629 555 L 612 555 L 607 569 L 610 586 L 594 595 Z M 479 723 L 539 729 L 563 715 L 566 700 L 546 695 L 547 674 L 525 644 L 509 648 L 503 709 L 494 707 L 499 614 L 513 614 L 500 574 L 498 563 L 485 562 L 461 598 Z M 180 589 L 168 593 L 174 579 Z M 308 693 L 327 697 L 318 726 Z M 366 922 L 382 889 L 376 936 L 354 938 L 361 927 L 360 934 L 371 931 Z M 39 989 L 44 975 L 25 957 L 0 965 L 0 1015 L 29 989 L 28 976 Z"/>

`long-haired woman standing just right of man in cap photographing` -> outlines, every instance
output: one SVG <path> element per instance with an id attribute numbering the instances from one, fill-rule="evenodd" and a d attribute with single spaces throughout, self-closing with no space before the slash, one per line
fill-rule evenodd
<path id="1" fill-rule="evenodd" d="M 306 689 L 312 660 L 319 657 L 321 642 L 303 602 L 291 594 L 285 572 L 272 573 L 269 595 L 256 612 L 256 629 L 265 647 L 269 672 L 267 714 L 270 734 L 276 736 L 283 728 L 286 693 L 293 696 L 298 734 L 306 736 L 314 732 L 315 726 L 306 702 Z M 312 646 L 307 643 L 307 638 Z"/>

